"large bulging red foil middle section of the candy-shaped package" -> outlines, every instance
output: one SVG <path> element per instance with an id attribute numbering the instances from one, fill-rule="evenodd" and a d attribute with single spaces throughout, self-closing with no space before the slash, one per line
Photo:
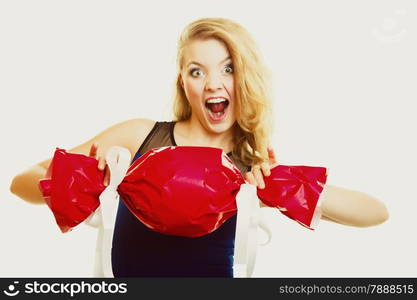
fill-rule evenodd
<path id="1" fill-rule="evenodd" d="M 239 169 L 219 148 L 166 147 L 136 160 L 118 192 L 150 229 L 198 237 L 236 214 L 242 183 Z"/>

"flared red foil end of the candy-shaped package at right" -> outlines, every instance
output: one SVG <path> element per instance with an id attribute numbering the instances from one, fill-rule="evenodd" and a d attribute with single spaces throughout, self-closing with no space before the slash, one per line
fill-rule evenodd
<path id="1" fill-rule="evenodd" d="M 257 189 L 257 194 L 265 205 L 278 208 L 312 229 L 311 221 L 326 180 L 324 167 L 278 165 L 264 177 L 265 188 Z"/>

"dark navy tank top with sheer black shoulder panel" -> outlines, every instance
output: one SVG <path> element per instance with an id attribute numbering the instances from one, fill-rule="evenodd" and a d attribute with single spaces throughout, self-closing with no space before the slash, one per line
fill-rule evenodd
<path id="1" fill-rule="evenodd" d="M 156 122 L 132 163 L 148 150 L 176 146 L 175 121 Z M 249 167 L 227 154 L 239 170 Z M 236 215 L 214 232 L 188 238 L 153 231 L 119 200 L 113 235 L 115 277 L 233 277 Z"/>

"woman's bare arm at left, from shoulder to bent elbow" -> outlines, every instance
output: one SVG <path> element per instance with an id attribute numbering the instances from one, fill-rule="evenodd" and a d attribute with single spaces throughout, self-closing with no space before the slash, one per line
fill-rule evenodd
<path id="1" fill-rule="evenodd" d="M 84 144 L 76 146 L 68 151 L 89 155 L 91 145 L 97 143 L 99 145 L 97 153 L 99 157 L 105 157 L 107 150 L 112 146 L 127 148 L 133 157 L 154 124 L 155 121 L 148 119 L 128 120 L 104 130 Z M 38 188 L 38 182 L 39 179 L 42 179 L 45 176 L 51 160 L 52 158 L 49 158 L 37 163 L 16 175 L 11 182 L 10 191 L 29 203 L 45 203 Z"/>

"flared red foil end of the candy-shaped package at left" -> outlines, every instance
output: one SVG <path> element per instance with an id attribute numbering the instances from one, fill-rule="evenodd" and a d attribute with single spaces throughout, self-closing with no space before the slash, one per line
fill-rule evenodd
<path id="1" fill-rule="evenodd" d="M 57 148 L 39 188 L 62 232 L 88 218 L 100 205 L 105 189 L 98 161 Z"/>

